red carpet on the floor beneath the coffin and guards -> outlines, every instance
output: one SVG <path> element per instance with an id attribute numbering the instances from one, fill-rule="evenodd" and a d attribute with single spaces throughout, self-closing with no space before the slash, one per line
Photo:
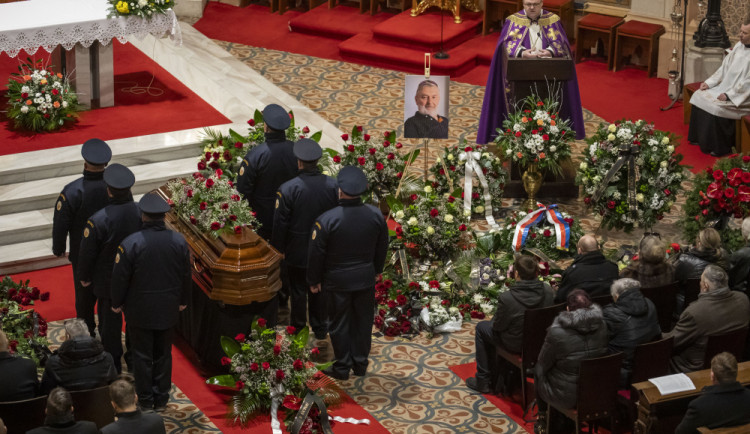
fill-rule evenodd
<path id="1" fill-rule="evenodd" d="M 45 270 L 32 271 L 11 275 L 18 280 L 30 280 L 29 285 L 36 286 L 40 291 L 50 292 L 50 299 L 46 302 L 37 302 L 35 309 L 47 320 L 58 321 L 75 317 L 73 289 L 73 270 L 70 265 L 63 267 L 48 268 Z M 227 424 L 224 417 L 226 403 L 230 395 L 221 389 L 213 389 L 205 383 L 203 378 L 190 363 L 189 359 L 176 346 L 172 347 L 172 381 L 182 390 L 185 395 L 195 404 L 211 421 L 224 433 L 248 432 L 248 428 L 240 429 Z M 333 408 L 329 412 L 334 416 L 353 417 L 355 419 L 370 419 L 370 425 L 352 425 L 339 423 L 335 426 L 335 432 L 356 434 L 378 434 L 387 433 L 367 411 L 360 407 L 350 397 L 340 407 Z M 271 432 L 270 417 L 259 421 L 251 428 L 259 432 Z"/>

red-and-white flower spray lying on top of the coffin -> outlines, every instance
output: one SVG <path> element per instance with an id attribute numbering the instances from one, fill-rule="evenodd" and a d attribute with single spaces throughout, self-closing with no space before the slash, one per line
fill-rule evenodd
<path id="1" fill-rule="evenodd" d="M 242 201 L 232 180 L 222 175 L 216 169 L 208 177 L 195 172 L 192 178 L 170 181 L 170 205 L 184 220 L 213 237 L 241 234 L 246 226 L 257 229 L 260 223 L 255 213 Z"/>

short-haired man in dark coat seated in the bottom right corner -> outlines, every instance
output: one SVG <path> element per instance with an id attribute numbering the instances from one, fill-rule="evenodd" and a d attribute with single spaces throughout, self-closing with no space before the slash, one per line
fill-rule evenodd
<path id="1" fill-rule="evenodd" d="M 732 354 L 719 353 L 711 359 L 711 382 L 690 402 L 675 434 L 750 424 L 750 390 L 737 381 L 737 359 Z"/>

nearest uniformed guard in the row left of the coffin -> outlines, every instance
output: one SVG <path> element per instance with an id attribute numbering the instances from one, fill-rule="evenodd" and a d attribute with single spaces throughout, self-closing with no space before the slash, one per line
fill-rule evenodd
<path id="1" fill-rule="evenodd" d="M 125 238 L 112 270 L 112 310 L 125 312 L 133 375 L 143 410 L 164 411 L 172 384 L 172 328 L 192 285 L 185 238 L 168 230 L 169 205 L 149 193 L 138 202 L 143 226 Z"/>

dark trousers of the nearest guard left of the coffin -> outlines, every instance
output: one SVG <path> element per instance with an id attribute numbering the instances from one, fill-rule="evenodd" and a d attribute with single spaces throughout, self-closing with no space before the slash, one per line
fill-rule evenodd
<path id="1" fill-rule="evenodd" d="M 172 329 L 151 330 L 128 324 L 128 334 L 141 408 L 166 405 L 172 387 Z"/>

